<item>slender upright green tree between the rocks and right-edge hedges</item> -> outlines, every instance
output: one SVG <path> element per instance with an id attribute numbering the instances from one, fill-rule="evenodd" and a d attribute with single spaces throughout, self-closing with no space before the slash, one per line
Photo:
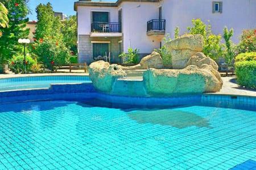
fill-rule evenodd
<path id="1" fill-rule="evenodd" d="M 225 27 L 223 29 L 223 38 L 225 40 L 224 59 L 228 67 L 233 66 L 234 57 L 235 57 L 234 46 L 231 41 L 232 36 L 233 36 L 233 28 L 229 30 L 227 27 Z"/>

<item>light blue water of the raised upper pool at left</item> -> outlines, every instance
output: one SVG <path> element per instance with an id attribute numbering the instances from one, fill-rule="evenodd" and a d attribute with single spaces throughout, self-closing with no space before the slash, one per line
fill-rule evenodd
<path id="1" fill-rule="evenodd" d="M 27 76 L 0 79 L 0 91 L 22 90 L 31 88 L 49 88 L 54 83 L 91 82 L 88 76 Z"/>

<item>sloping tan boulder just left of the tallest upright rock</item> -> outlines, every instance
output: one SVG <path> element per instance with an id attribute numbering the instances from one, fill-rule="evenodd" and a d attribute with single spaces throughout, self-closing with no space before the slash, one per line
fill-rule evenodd
<path id="1" fill-rule="evenodd" d="M 163 68 L 163 59 L 157 52 L 152 52 L 150 55 L 143 57 L 141 62 L 135 66 L 124 67 L 121 66 L 122 70 L 139 70 L 139 69 L 162 69 Z"/>

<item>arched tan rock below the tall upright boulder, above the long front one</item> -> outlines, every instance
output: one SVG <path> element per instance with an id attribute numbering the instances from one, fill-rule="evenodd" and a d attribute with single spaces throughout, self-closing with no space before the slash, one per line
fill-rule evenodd
<path id="1" fill-rule="evenodd" d="M 206 57 L 204 53 L 196 53 L 187 62 L 187 66 L 195 65 L 199 68 L 202 68 L 204 64 L 210 65 L 213 69 L 218 70 L 217 63 L 212 58 Z"/>

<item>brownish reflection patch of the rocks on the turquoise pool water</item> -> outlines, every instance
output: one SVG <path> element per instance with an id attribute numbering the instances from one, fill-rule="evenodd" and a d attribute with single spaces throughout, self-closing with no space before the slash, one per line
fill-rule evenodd
<path id="1" fill-rule="evenodd" d="M 168 125 L 179 129 L 187 128 L 189 126 L 210 128 L 207 118 L 200 117 L 191 112 L 162 109 L 156 111 L 130 112 L 127 115 L 140 124 L 150 123 Z"/>

